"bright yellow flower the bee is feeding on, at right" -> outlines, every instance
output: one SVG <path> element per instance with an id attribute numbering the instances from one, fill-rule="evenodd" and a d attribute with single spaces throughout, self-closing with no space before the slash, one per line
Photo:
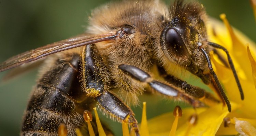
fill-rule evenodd
<path id="1" fill-rule="evenodd" d="M 229 113 L 222 103 L 196 110 L 185 108 L 183 109 L 183 116 L 177 124 L 175 136 L 236 135 L 238 133 L 256 135 L 256 107 L 254 105 L 256 98 L 255 44 L 241 32 L 233 30 L 224 14 L 221 15 L 221 18 L 225 26 L 215 19 L 209 21 L 209 39 L 228 49 L 244 91 L 244 100 L 240 99 L 239 90 L 231 69 L 223 65 L 217 56 L 210 53 L 214 70 L 231 102 L 232 112 Z M 239 39 L 237 38 L 238 36 Z M 223 52 L 223 56 L 225 55 Z M 188 123 L 188 119 L 193 114 L 197 115 L 197 123 L 192 126 Z M 230 118 L 231 123 L 226 128 L 223 121 L 225 117 Z M 149 120 L 148 130 L 150 136 L 171 135 L 170 130 L 174 118 L 172 113 L 167 113 Z"/>

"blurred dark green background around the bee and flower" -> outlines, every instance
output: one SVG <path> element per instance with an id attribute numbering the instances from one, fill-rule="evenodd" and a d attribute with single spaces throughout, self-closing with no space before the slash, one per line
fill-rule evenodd
<path id="1" fill-rule="evenodd" d="M 0 0 L 0 62 L 18 53 L 83 33 L 82 26 L 86 26 L 87 15 L 93 8 L 107 1 Z M 256 41 L 256 25 L 249 0 L 200 2 L 210 16 L 219 18 L 219 14 L 225 13 L 232 26 Z M 0 73 L 0 78 L 5 73 Z M 37 69 L 9 82 L 0 82 L 0 136 L 19 134 L 23 111 L 36 78 Z M 144 96 L 140 100 L 147 101 L 148 118 L 170 112 L 177 104 L 189 106 L 157 96 Z M 142 106 L 133 109 L 140 122 Z M 102 119 L 111 123 L 116 135 L 121 135 L 120 124 L 105 117 Z"/>

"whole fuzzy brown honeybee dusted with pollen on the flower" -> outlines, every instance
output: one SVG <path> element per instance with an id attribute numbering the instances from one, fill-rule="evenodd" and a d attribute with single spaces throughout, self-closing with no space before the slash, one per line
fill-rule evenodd
<path id="1" fill-rule="evenodd" d="M 215 86 L 230 111 L 208 56 L 212 47 L 222 47 L 207 40 L 206 19 L 203 7 L 196 2 L 175 1 L 169 9 L 159 1 L 107 4 L 93 12 L 85 34 L 3 62 L 0 71 L 51 55 L 33 89 L 21 135 L 57 135 L 60 123 L 75 135 L 74 129 L 84 126 L 83 111 L 91 111 L 95 102 L 114 119 L 130 123 L 139 135 L 134 113 L 126 103 L 136 105 L 146 86 L 194 107 L 204 105 L 201 98 L 219 102 L 177 78 L 172 69 L 191 72 Z M 159 74 L 166 81 L 155 80 L 148 73 Z M 240 91 L 243 96 L 241 87 Z"/>

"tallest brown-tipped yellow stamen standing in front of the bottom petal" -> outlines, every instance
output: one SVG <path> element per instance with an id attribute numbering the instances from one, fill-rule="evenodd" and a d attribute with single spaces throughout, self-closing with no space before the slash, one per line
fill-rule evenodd
<path id="1" fill-rule="evenodd" d="M 178 121 L 179 118 L 182 116 L 182 109 L 179 105 L 177 105 L 174 110 L 173 110 L 173 115 L 175 117 L 173 124 L 172 124 L 172 129 L 170 131 L 169 136 L 175 136 L 175 132 L 177 130 L 177 125 L 178 125 Z"/>

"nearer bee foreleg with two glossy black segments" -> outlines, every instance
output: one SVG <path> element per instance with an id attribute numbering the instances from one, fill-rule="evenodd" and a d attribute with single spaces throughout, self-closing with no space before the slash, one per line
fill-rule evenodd
<path id="1" fill-rule="evenodd" d="M 200 107 L 204 105 L 200 101 L 195 100 L 193 97 L 183 93 L 180 88 L 177 88 L 171 84 L 165 84 L 156 81 L 148 73 L 137 67 L 122 64 L 119 66 L 119 68 L 124 71 L 125 74 L 131 76 L 133 79 L 139 80 L 140 82 L 148 83 L 154 90 L 162 95 L 182 99 L 185 102 L 191 104 L 193 107 Z"/>

